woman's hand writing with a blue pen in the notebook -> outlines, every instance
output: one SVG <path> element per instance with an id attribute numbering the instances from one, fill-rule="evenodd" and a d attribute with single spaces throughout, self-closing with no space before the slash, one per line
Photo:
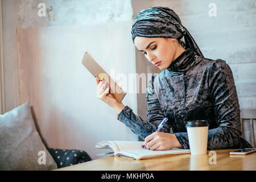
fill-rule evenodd
<path id="1" fill-rule="evenodd" d="M 175 134 L 154 132 L 148 135 L 143 143 L 144 147 L 150 150 L 170 150 L 171 148 L 181 148 L 179 140 Z"/>

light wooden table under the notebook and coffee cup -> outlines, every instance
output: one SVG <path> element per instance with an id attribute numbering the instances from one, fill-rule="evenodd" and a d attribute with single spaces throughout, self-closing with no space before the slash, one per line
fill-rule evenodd
<path id="1" fill-rule="evenodd" d="M 162 158 L 134 160 L 121 158 L 117 156 L 108 156 L 90 162 L 76 164 L 69 167 L 59 168 L 57 170 L 90 170 L 90 171 L 181 171 L 181 170 L 256 170 L 256 152 L 249 155 L 234 156 L 229 152 L 237 149 L 212 150 L 216 152 L 217 160 L 214 164 L 213 155 L 207 151 L 205 155 L 173 155 Z M 211 152 L 210 152 L 211 153 Z M 209 160 L 212 164 L 209 164 Z"/>

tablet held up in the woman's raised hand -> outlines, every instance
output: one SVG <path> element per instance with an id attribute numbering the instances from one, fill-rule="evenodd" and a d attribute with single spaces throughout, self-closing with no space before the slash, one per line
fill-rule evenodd
<path id="1" fill-rule="evenodd" d="M 85 51 L 84 57 L 82 59 L 82 64 L 90 73 L 94 76 L 98 75 L 101 80 L 106 81 L 110 86 L 110 94 L 117 100 L 117 102 L 121 103 L 123 98 L 126 95 L 125 89 L 122 88 L 118 82 L 110 76 L 110 74 L 106 71 L 104 67 L 88 51 Z"/>

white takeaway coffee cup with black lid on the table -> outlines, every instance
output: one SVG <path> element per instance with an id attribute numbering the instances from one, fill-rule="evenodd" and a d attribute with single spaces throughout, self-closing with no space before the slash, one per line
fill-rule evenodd
<path id="1" fill-rule="evenodd" d="M 205 120 L 188 121 L 186 127 L 191 154 L 207 154 L 208 122 Z"/>

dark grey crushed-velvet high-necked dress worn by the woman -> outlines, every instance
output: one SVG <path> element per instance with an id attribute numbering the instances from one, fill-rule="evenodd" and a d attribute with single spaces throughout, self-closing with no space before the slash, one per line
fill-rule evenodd
<path id="1" fill-rule="evenodd" d="M 143 139 L 167 117 L 160 131 L 174 133 L 181 146 L 189 148 L 186 122 L 204 119 L 209 122 L 208 149 L 251 147 L 241 138 L 236 86 L 224 60 L 205 59 L 187 49 L 170 67 L 150 78 L 146 98 L 147 121 L 129 106 L 118 115 L 119 121 Z"/>

